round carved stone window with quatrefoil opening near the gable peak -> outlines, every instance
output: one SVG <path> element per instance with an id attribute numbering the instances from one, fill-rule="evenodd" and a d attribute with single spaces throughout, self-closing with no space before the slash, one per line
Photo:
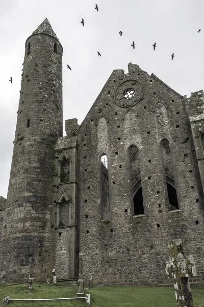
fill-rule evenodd
<path id="1" fill-rule="evenodd" d="M 134 79 L 120 83 L 115 90 L 115 103 L 121 107 L 131 107 L 138 103 L 144 94 L 142 84 Z"/>

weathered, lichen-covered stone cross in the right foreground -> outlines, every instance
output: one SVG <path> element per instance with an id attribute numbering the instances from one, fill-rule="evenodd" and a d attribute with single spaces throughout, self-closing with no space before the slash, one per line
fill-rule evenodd
<path id="1" fill-rule="evenodd" d="M 184 257 L 182 240 L 168 242 L 169 260 L 166 261 L 166 274 L 174 279 L 175 298 L 178 307 L 193 307 L 189 276 L 196 276 L 192 256 Z"/>

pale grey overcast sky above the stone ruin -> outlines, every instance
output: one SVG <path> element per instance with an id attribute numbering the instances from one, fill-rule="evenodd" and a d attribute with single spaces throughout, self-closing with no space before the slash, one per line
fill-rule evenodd
<path id="1" fill-rule="evenodd" d="M 204 89 L 203 12 L 203 0 L 1 0 L 0 195 L 7 196 L 25 40 L 46 17 L 64 50 L 63 120 L 81 123 L 112 71 L 127 73 L 129 62 L 181 95 Z"/>

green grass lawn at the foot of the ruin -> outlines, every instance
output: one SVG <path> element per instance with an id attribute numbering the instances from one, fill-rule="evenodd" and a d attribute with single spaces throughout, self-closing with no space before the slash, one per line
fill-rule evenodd
<path id="1" fill-rule="evenodd" d="M 104 286 L 90 288 L 92 307 L 176 307 L 173 287 L 136 287 L 136 286 Z M 40 287 L 34 283 L 30 293 L 27 284 L 18 286 L 0 286 L 0 306 L 4 296 L 11 298 L 60 298 L 75 297 L 76 286 L 41 283 Z M 204 307 L 204 286 L 192 287 L 194 307 Z M 52 307 L 52 306 L 87 306 L 84 301 L 42 301 L 42 302 L 11 302 L 13 307 Z"/>

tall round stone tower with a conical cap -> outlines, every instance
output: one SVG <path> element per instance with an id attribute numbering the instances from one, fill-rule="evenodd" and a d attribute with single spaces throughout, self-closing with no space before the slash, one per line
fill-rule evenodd
<path id="1" fill-rule="evenodd" d="M 62 46 L 47 18 L 25 42 L 0 263 L 2 280 L 50 271 L 52 154 L 62 136 Z M 29 273 L 30 271 L 30 273 Z"/>

